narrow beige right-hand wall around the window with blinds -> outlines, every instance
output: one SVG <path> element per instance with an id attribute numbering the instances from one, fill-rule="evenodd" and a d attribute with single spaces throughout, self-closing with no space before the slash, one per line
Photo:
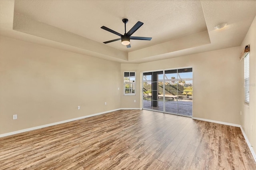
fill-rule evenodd
<path id="1" fill-rule="evenodd" d="M 241 125 L 244 129 L 250 144 L 253 146 L 254 152 L 256 153 L 256 18 L 254 18 L 250 29 L 248 30 L 244 41 L 241 44 L 240 51 L 244 50 L 246 45 L 250 45 L 250 103 L 249 105 L 244 104 L 244 59 L 240 62 L 240 75 L 241 75 L 241 100 L 240 106 L 242 115 Z"/>

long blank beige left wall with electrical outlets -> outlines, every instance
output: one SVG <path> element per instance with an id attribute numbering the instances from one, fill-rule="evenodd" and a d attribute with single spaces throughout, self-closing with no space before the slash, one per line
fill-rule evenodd
<path id="1" fill-rule="evenodd" d="M 0 37 L 0 134 L 119 109 L 118 87 L 120 63 Z"/>

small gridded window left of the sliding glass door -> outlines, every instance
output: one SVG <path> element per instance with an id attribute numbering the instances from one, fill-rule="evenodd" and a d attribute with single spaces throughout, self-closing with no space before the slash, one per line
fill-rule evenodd
<path id="1" fill-rule="evenodd" d="M 135 95 L 135 72 L 124 72 L 124 95 Z"/>

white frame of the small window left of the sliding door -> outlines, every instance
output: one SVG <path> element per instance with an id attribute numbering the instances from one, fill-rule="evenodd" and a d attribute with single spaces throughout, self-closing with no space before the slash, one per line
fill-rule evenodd
<path id="1" fill-rule="evenodd" d="M 135 71 L 124 71 L 124 73 L 129 73 L 129 77 L 124 76 L 124 95 L 136 95 L 136 72 Z M 134 76 L 130 76 L 131 73 L 134 73 Z M 133 80 L 131 80 L 131 77 Z M 126 88 L 126 85 L 129 85 L 129 88 Z M 129 89 L 129 93 L 126 93 L 126 90 Z M 134 92 L 134 93 L 133 93 Z"/>

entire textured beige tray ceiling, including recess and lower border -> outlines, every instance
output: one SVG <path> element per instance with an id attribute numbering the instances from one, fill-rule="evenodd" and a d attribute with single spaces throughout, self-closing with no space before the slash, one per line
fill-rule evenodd
<path id="1" fill-rule="evenodd" d="M 0 34 L 118 62 L 140 63 L 241 44 L 255 0 L 1 0 Z M 131 48 L 102 30 L 124 34 L 144 23 Z M 228 23 L 222 30 L 216 24 Z M 14 31 L 15 30 L 15 31 Z M 18 31 L 18 32 L 17 32 Z M 26 33 L 26 34 L 24 34 Z M 38 38 L 35 38 L 38 37 Z"/>

